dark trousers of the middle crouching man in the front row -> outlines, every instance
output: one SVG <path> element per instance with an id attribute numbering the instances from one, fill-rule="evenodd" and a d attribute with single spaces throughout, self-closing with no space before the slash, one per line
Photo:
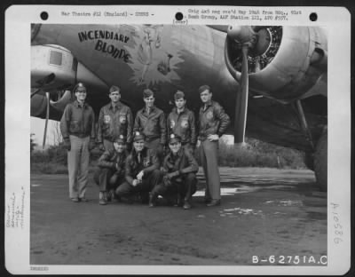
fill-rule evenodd
<path id="1" fill-rule="evenodd" d="M 146 199 L 149 192 L 162 180 L 162 172 L 154 170 L 147 176 L 143 176 L 142 183 L 137 186 L 132 186 L 127 181 L 123 182 L 121 186 L 116 189 L 116 194 L 120 197 L 127 197 L 133 194 L 140 194 L 142 199 Z"/>

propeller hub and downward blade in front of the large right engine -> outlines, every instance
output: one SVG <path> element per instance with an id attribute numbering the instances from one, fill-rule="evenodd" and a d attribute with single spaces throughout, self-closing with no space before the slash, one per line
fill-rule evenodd
<path id="1" fill-rule="evenodd" d="M 256 32 L 250 26 L 230 26 L 227 36 L 241 48 L 241 89 L 235 99 L 234 144 L 244 144 L 248 110 L 248 51 L 256 44 Z"/>

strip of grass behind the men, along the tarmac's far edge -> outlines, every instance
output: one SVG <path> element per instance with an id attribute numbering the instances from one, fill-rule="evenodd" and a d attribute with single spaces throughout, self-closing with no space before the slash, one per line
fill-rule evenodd
<path id="1" fill-rule="evenodd" d="M 256 139 L 247 139 L 243 147 L 219 143 L 218 163 L 224 167 L 258 167 L 276 169 L 306 169 L 304 153 L 295 149 L 275 146 Z M 89 171 L 96 169 L 101 152 L 91 152 Z M 195 157 L 201 165 L 200 151 L 196 149 Z M 67 149 L 63 145 L 51 146 L 44 151 L 31 153 L 31 173 L 67 174 Z"/>

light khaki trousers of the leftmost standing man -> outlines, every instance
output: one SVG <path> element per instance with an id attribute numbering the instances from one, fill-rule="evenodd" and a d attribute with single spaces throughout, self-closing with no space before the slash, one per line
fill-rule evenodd
<path id="1" fill-rule="evenodd" d="M 70 151 L 67 152 L 67 171 L 69 174 L 69 197 L 83 198 L 88 185 L 89 141 L 90 137 L 69 136 Z"/>

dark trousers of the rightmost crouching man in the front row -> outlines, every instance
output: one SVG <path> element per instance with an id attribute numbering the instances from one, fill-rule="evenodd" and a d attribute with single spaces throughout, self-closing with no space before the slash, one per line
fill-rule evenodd
<path id="1" fill-rule="evenodd" d="M 154 186 L 152 194 L 155 196 L 162 195 L 162 197 L 169 197 L 171 195 L 179 194 L 181 199 L 190 202 L 193 194 L 196 192 L 197 178 L 195 173 L 188 173 L 184 178 L 177 180 L 172 179 L 170 186 L 165 184 L 158 184 Z"/>

